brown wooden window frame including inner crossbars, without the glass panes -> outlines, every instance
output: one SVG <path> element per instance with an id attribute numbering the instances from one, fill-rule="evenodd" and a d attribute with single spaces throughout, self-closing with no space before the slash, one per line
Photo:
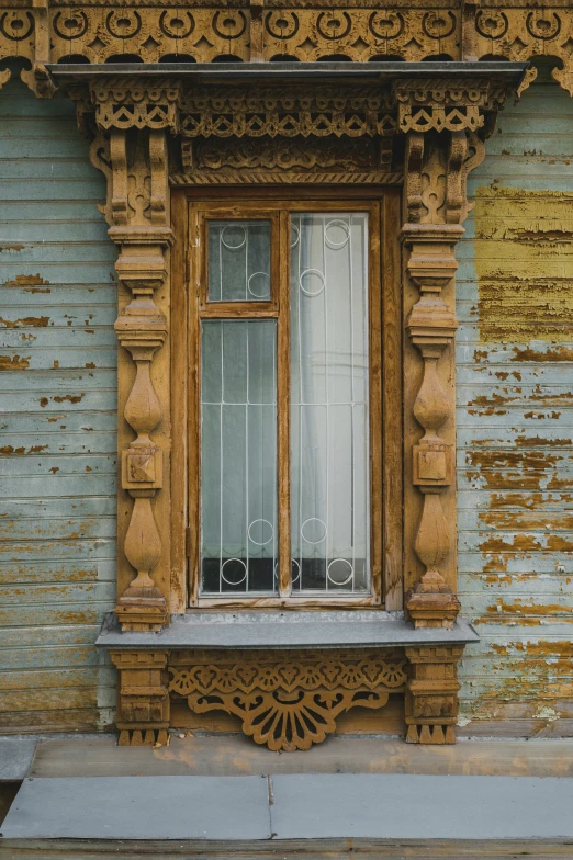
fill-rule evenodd
<path id="1" fill-rule="evenodd" d="M 401 609 L 402 608 L 402 324 L 400 295 L 400 194 L 395 189 L 314 188 L 177 189 L 172 212 L 177 236 L 172 265 L 172 579 L 183 586 L 186 611 L 238 609 Z M 351 192 L 351 193 L 348 193 Z M 358 192 L 358 193 L 357 193 Z M 390 192 L 390 193 L 386 193 Z M 348 196 L 347 196 L 348 195 Z M 223 199 L 222 199 L 223 197 Z M 229 203 L 229 197 L 233 200 Z M 236 201 L 236 202 L 235 202 Z M 290 409 L 278 407 L 279 595 L 200 595 L 200 326 L 201 318 L 277 319 L 278 403 L 290 404 L 289 217 L 294 212 L 367 212 L 369 215 L 369 397 L 370 397 L 370 592 L 324 595 L 290 593 Z M 279 284 L 271 302 L 205 303 L 205 222 L 278 215 Z M 279 242 L 271 245 L 271 256 Z M 274 246 L 274 247 L 273 247 Z M 183 251 L 183 252 L 182 252 Z M 274 265 L 274 263 L 273 263 Z M 277 292 L 278 287 L 278 292 Z M 178 308 L 187 310 L 183 319 Z M 387 337 L 382 337 L 382 327 Z M 187 346 L 186 346 L 187 344 Z M 282 365 L 282 371 L 281 371 Z M 183 403 L 181 401 L 183 398 Z M 285 417 L 284 417 L 285 416 Z M 181 468 L 184 479 L 181 480 Z M 184 485 L 184 486 L 183 486 Z M 182 514 L 184 533 L 181 533 Z M 286 563 L 284 563 L 286 559 Z M 181 577 L 181 567 L 184 576 Z"/>

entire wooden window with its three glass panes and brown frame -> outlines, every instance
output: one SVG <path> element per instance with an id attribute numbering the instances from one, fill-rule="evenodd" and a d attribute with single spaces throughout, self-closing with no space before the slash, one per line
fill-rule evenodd
<path id="1" fill-rule="evenodd" d="M 189 201 L 190 606 L 382 604 L 382 207 Z"/>

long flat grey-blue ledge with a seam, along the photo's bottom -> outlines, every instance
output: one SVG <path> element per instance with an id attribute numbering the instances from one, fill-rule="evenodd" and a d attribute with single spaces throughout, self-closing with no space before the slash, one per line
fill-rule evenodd
<path id="1" fill-rule="evenodd" d="M 3 835 L 7 839 L 272 839 L 273 845 L 282 839 L 337 837 L 573 838 L 572 808 L 573 780 L 553 777 L 35 779 L 23 783 Z"/>

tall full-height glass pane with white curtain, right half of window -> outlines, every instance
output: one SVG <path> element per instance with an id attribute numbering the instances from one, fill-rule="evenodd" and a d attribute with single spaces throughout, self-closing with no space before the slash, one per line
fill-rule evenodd
<path id="1" fill-rule="evenodd" d="M 293 590 L 369 589 L 368 215 L 291 219 Z"/>

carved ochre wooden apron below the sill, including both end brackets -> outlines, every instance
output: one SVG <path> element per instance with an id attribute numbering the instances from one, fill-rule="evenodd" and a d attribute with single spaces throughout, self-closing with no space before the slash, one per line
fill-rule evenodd
<path id="1" fill-rule="evenodd" d="M 461 646 L 344 650 L 112 650 L 119 669 L 120 744 L 167 743 L 170 700 L 195 714 L 238 716 L 273 750 L 308 749 L 352 708 L 380 709 L 406 694 L 406 739 L 453 744 Z"/>

